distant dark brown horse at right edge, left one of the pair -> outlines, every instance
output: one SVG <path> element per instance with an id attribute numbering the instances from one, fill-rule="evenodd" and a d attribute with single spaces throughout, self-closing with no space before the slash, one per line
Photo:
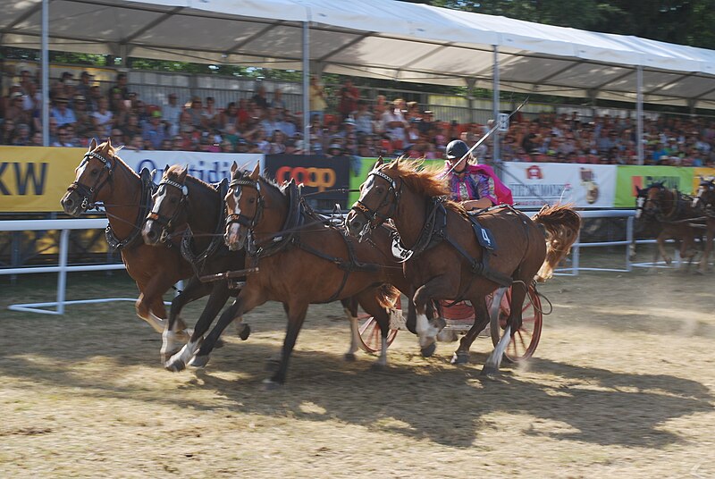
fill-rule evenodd
<path id="1" fill-rule="evenodd" d="M 682 241 L 680 257 L 687 260 L 687 265 L 692 264 L 698 253 L 695 248 L 697 230 L 690 225 L 690 221 L 698 216 L 692 205 L 693 199 L 682 195 L 677 189 L 666 188 L 662 182 L 638 190 L 637 198 L 644 199 L 636 199 L 636 219 L 643 218 L 645 222 L 660 224 L 660 232 L 656 237 L 658 249 L 653 256 L 653 263 L 658 260 L 659 253 L 666 264 L 672 263 L 665 241 L 673 239 L 677 243 Z"/>

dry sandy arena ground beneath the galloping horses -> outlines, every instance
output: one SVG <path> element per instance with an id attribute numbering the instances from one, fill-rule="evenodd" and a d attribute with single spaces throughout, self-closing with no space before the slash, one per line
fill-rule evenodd
<path id="1" fill-rule="evenodd" d="M 55 279 L 2 281 L 0 477 L 715 477 L 715 273 L 556 277 L 534 358 L 484 381 L 488 339 L 450 366 L 456 343 L 425 359 L 400 332 L 374 370 L 343 361 L 340 304 L 311 307 L 278 391 L 261 387 L 278 304 L 206 370 L 172 374 L 131 303 L 15 313 Z M 69 285 L 136 296 L 123 273 Z"/>

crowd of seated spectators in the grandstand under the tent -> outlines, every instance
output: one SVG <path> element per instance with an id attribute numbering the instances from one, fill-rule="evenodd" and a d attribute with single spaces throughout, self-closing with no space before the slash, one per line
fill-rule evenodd
<path id="1" fill-rule="evenodd" d="M 125 73 L 103 89 L 87 71 L 79 79 L 67 71 L 50 87 L 50 145 L 86 147 L 92 138 L 139 150 L 315 155 L 408 155 L 438 159 L 452 139 L 470 147 L 492 129 L 492 122 L 437 121 L 416 102 L 378 96 L 368 101 L 351 80 L 333 94 L 328 110 L 320 81 L 310 80 L 310 151 L 302 118 L 290 112 L 280 89 L 265 87 L 228 105 L 213 97 L 185 104 L 170 93 L 164 105 L 147 105 L 127 83 Z M 42 146 L 42 97 L 29 71 L 22 71 L 0 102 L 0 144 Z M 501 132 L 504 161 L 637 164 L 635 122 L 608 115 L 585 121 L 573 114 L 517 113 Z M 644 122 L 645 164 L 713 166 L 715 122 L 702 117 L 662 117 Z M 475 148 L 481 161 L 492 159 L 492 141 Z"/>

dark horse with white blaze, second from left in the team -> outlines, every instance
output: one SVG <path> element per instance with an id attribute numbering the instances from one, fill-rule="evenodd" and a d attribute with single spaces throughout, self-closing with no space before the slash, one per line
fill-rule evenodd
<path id="1" fill-rule="evenodd" d="M 179 165 L 167 167 L 154 194 L 154 206 L 147 214 L 142 229 L 145 243 L 161 248 L 164 245 L 163 238 L 181 238 L 181 256 L 193 267 L 197 277 L 243 269 L 246 256 L 243 249 L 230 252 L 223 244 L 223 195 L 227 185 L 227 181 L 223 181 L 214 188 L 188 175 L 187 168 Z M 235 283 L 227 280 L 201 283 L 200 289 L 196 290 L 191 299 L 209 293 L 211 296 L 206 301 L 198 323 L 211 324 L 231 294 L 238 295 L 238 289 L 231 288 L 231 285 Z M 176 352 L 174 319 L 173 316 L 169 318 L 162 335 L 164 356 Z M 248 324 L 241 324 L 240 318 L 235 323 L 240 338 L 248 339 Z M 191 340 L 200 340 L 196 330 Z M 167 359 L 164 357 L 164 360 Z M 168 360 L 164 366 L 171 371 L 183 369 L 183 364 Z"/>

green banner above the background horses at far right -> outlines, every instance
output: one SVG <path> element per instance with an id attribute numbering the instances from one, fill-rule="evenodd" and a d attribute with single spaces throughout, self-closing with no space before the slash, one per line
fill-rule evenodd
<path id="1" fill-rule="evenodd" d="M 635 207 L 635 187 L 645 188 L 662 181 L 667 188 L 693 193 L 694 168 L 679 166 L 618 166 L 616 179 L 617 208 Z"/>

